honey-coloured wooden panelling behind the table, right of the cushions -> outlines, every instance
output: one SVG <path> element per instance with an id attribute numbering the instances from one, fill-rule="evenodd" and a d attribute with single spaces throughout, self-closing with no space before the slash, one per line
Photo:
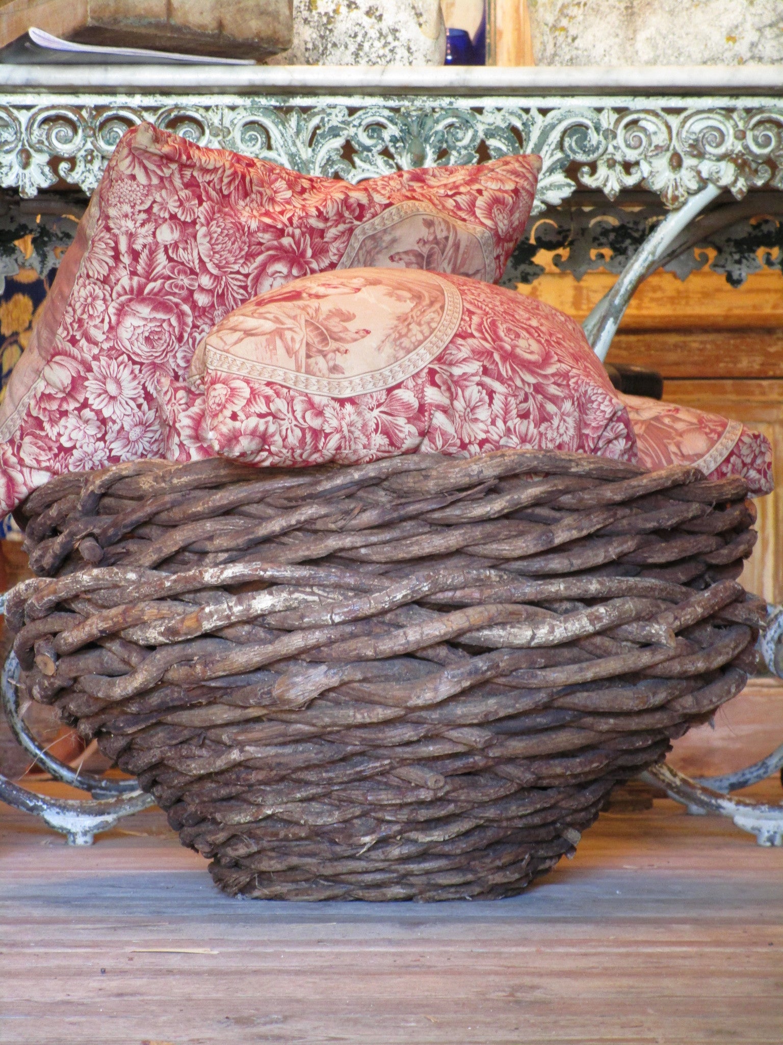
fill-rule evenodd
<path id="1" fill-rule="evenodd" d="M 577 282 L 547 252 L 546 273 L 523 294 L 582 322 L 616 280 L 607 272 Z M 776 491 L 757 501 L 759 541 L 742 582 L 783 602 L 783 273 L 754 273 L 738 288 L 707 271 L 680 281 L 656 273 L 639 288 L 608 356 L 664 376 L 664 399 L 722 414 L 762 432 L 773 444 Z"/>

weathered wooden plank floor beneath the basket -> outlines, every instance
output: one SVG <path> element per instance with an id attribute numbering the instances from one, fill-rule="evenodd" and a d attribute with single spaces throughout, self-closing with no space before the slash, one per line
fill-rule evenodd
<path id="1" fill-rule="evenodd" d="M 0 806 L 0 904 L 2 1045 L 783 1041 L 783 852 L 668 800 L 432 906 L 230 900 L 158 811 L 72 849 Z"/>

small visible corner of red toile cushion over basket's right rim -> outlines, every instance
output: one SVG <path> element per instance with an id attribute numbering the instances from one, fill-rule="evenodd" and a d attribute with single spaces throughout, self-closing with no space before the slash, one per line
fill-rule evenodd
<path id="1" fill-rule="evenodd" d="M 631 415 L 639 463 L 645 468 L 692 464 L 710 479 L 742 475 L 755 496 L 772 491 L 773 450 L 761 433 L 690 407 L 635 395 L 620 398 Z"/>

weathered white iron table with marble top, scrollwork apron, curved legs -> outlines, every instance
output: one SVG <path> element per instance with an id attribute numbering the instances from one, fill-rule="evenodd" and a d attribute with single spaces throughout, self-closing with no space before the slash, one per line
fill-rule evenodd
<path id="1" fill-rule="evenodd" d="M 199 144 L 352 182 L 398 168 L 539 153 L 533 214 L 577 189 L 609 201 L 630 190 L 669 211 L 585 321 L 606 358 L 636 287 L 709 232 L 755 213 L 752 200 L 705 209 L 721 193 L 783 189 L 783 76 L 774 66 L 642 69 L 217 66 L 0 67 L 0 188 L 22 198 L 66 183 L 88 195 L 123 132 L 141 120 Z M 764 211 L 770 209 L 764 194 Z M 772 209 L 783 213 L 773 198 Z M 698 216 L 703 215 L 701 220 Z M 515 273 L 507 274 L 515 281 Z M 760 641 L 775 671 L 783 611 Z M 37 813 L 74 844 L 152 805 L 135 781 L 75 773 L 43 751 L 16 702 L 11 654 L 0 682 L 20 743 L 54 779 L 92 802 L 43 798 L 0 776 L 0 798 Z M 763 845 L 783 844 L 783 806 L 730 798 L 783 766 L 783 746 L 726 776 L 691 781 L 668 766 L 646 775 L 693 812 L 728 816 Z"/>

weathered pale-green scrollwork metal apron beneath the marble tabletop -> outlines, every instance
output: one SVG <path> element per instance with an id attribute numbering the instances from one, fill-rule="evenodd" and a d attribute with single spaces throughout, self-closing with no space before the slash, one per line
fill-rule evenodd
<path id="1" fill-rule="evenodd" d="M 576 187 L 610 200 L 643 187 L 666 207 L 712 183 L 741 199 L 783 188 L 783 107 L 720 108 L 712 99 L 640 99 L 607 107 L 539 99 L 285 96 L 6 96 L 0 184 L 33 196 L 62 179 L 90 193 L 128 126 L 150 120 L 192 141 L 352 182 L 398 168 L 542 156 L 537 208 Z"/>

